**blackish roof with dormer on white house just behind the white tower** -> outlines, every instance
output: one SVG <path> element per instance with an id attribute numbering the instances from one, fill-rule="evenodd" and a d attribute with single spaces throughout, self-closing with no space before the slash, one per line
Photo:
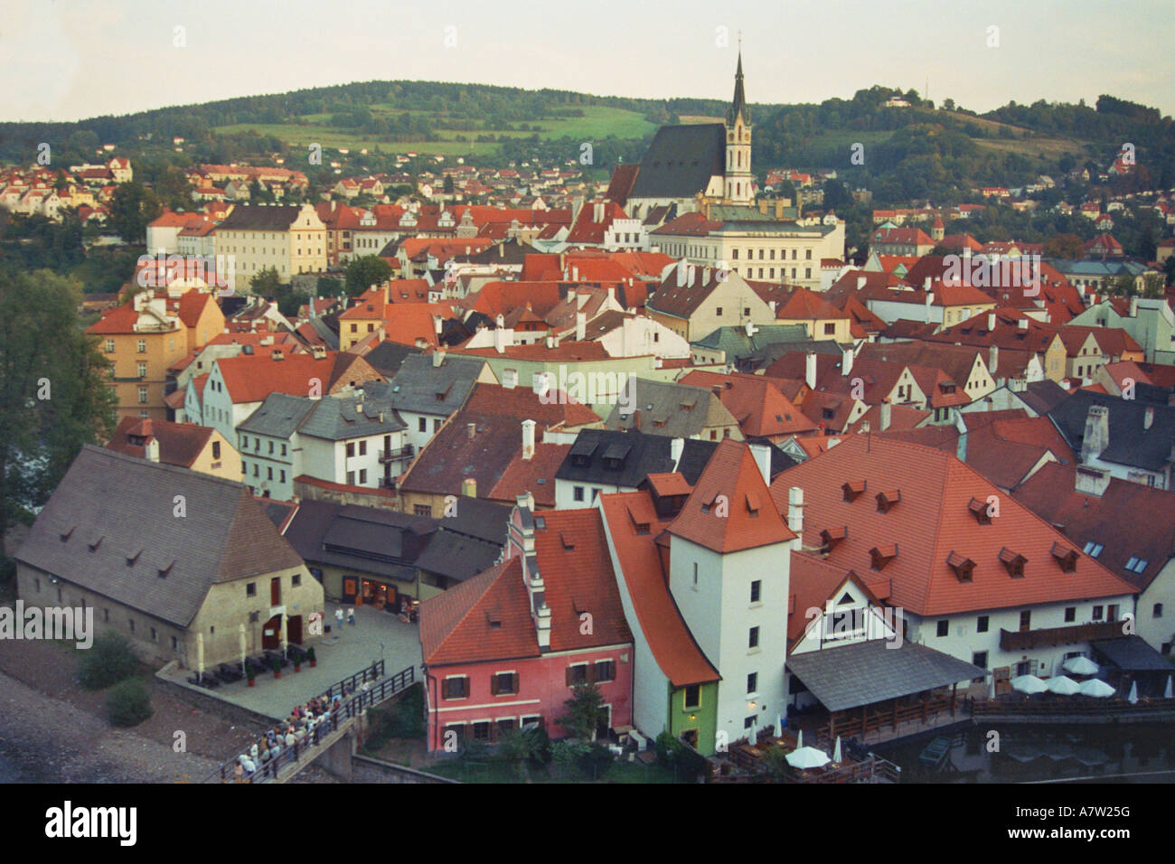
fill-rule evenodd
<path id="1" fill-rule="evenodd" d="M 673 470 L 672 441 L 666 435 L 639 431 L 582 429 L 555 477 L 636 489 L 650 474 Z M 619 466 L 607 467 L 604 464 L 604 454 L 617 444 L 629 448 L 627 455 Z M 686 438 L 677 470 L 689 483 L 697 483 L 717 447 L 717 441 Z M 580 461 L 584 463 L 580 464 Z"/>

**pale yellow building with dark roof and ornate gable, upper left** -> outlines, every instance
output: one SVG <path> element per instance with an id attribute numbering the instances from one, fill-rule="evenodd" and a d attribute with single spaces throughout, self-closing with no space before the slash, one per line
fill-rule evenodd
<path id="1" fill-rule="evenodd" d="M 237 205 L 216 229 L 216 255 L 233 257 L 239 289 L 267 268 L 289 282 L 327 269 L 327 226 L 310 205 Z"/>

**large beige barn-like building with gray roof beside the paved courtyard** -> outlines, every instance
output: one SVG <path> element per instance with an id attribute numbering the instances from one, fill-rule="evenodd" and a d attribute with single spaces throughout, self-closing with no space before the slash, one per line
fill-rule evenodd
<path id="1" fill-rule="evenodd" d="M 112 502 L 118 507 L 112 507 Z M 322 585 L 236 482 L 86 446 L 16 558 L 26 605 L 93 609 L 94 635 L 206 669 L 313 642 Z"/>

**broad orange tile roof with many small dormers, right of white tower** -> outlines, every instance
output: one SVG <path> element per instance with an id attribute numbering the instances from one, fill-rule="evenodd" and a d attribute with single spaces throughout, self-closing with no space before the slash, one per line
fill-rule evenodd
<path id="1" fill-rule="evenodd" d="M 845 501 L 842 484 L 865 482 Z M 805 543 L 821 545 L 820 531 L 848 525 L 848 536 L 828 554 L 833 565 L 871 571 L 870 550 L 897 544 L 885 565 L 889 602 L 921 616 L 1005 609 L 1067 600 L 1132 594 L 1133 587 L 1081 555 L 1073 572 L 1053 557 L 1056 544 L 1073 544 L 953 455 L 885 436 L 851 435 L 820 456 L 780 474 L 772 484 L 777 504 L 787 505 L 791 487 L 805 494 Z M 900 493 L 887 511 L 879 493 Z M 1000 515 L 979 524 L 972 501 L 996 496 Z M 1023 578 L 1012 578 L 999 556 L 1010 549 L 1027 558 Z M 947 557 L 975 562 L 971 582 L 960 582 Z"/>

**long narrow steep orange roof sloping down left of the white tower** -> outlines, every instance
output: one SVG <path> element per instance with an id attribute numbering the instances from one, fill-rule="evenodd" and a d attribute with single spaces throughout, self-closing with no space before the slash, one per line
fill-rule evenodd
<path id="1" fill-rule="evenodd" d="M 667 520 L 657 516 L 646 491 L 600 495 L 599 507 L 636 621 L 657 665 L 674 688 L 719 681 L 721 676 L 694 642 L 669 590 L 657 545 Z"/>

